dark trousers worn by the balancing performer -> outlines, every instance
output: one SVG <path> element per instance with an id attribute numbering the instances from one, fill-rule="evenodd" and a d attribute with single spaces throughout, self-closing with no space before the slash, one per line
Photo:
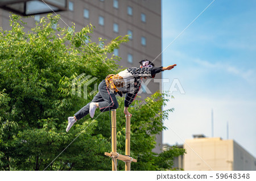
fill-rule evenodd
<path id="1" fill-rule="evenodd" d="M 112 109 L 118 108 L 118 102 L 117 98 L 115 98 L 115 94 L 110 92 L 108 87 L 106 86 L 105 80 L 98 85 L 98 93 L 96 96 L 94 96 L 92 102 L 98 103 L 98 106 L 100 107 L 100 111 L 109 111 Z M 75 113 L 76 119 L 80 120 L 82 117 L 88 115 L 90 103 L 86 104 L 81 110 L 79 110 L 77 113 Z"/>

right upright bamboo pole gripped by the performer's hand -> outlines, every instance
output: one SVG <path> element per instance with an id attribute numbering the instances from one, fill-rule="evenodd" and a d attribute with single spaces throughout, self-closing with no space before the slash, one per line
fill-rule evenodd
<path id="1" fill-rule="evenodd" d="M 131 116 L 126 116 L 126 139 L 125 139 L 125 155 L 130 156 L 130 141 L 131 141 Z M 125 171 L 131 170 L 131 162 L 125 163 Z"/>

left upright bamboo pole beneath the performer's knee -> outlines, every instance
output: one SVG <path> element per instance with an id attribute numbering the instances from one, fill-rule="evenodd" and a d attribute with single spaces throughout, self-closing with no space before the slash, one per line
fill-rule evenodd
<path id="1" fill-rule="evenodd" d="M 112 152 L 117 152 L 117 119 L 116 110 L 112 110 Z M 117 165 L 117 158 L 112 159 L 112 171 L 117 171 L 115 169 Z"/>

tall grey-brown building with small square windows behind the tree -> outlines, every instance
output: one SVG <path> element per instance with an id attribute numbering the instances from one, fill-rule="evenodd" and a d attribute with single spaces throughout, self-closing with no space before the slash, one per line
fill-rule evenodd
<path id="1" fill-rule="evenodd" d="M 61 2 L 64 0 L 61 0 Z M 55 1 L 57 2 L 57 1 Z M 33 8 L 40 9 L 42 3 L 35 3 Z M 47 7 L 45 7 L 47 8 Z M 76 30 L 92 23 L 95 26 L 92 41 L 98 42 L 98 37 L 108 41 L 120 35 L 130 35 L 130 41 L 122 44 L 114 54 L 121 57 L 119 65 L 125 67 L 138 66 L 140 60 L 154 60 L 162 52 L 161 30 L 161 0 L 72 0 L 67 1 L 67 10 L 56 12 L 61 15 L 60 27 L 76 24 Z M 28 30 L 35 26 L 35 21 L 46 14 L 35 15 L 26 19 Z M 0 9 L 0 26 L 9 30 L 9 11 Z M 162 65 L 162 57 L 154 61 L 156 66 Z M 155 79 L 146 79 L 139 96 L 142 99 L 160 89 L 162 74 Z M 148 83 L 149 81 L 149 83 Z M 157 137 L 155 151 L 162 148 L 162 133 Z"/>

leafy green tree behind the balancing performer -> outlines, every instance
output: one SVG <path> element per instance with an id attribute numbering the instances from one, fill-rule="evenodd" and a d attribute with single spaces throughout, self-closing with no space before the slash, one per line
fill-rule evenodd
<path id="1" fill-rule="evenodd" d="M 86 116 L 68 133 L 65 128 L 67 117 L 93 96 L 73 95 L 72 79 L 85 73 L 100 83 L 106 75 L 117 73 L 121 58 L 112 52 L 128 37 L 118 36 L 108 44 L 99 38 L 99 43 L 93 43 L 92 25 L 78 32 L 75 24 L 55 30 L 58 20 L 48 15 L 25 32 L 21 17 L 11 15 L 11 30 L 0 30 L 0 170 L 44 170 L 49 163 L 46 170 L 111 169 L 110 158 L 104 155 L 111 149 L 108 113 L 96 112 L 100 116 L 94 121 Z M 93 90 L 93 85 L 88 87 L 88 92 Z M 130 108 L 131 155 L 138 159 L 133 170 L 171 169 L 174 155 L 184 153 L 183 149 L 152 153 L 155 135 L 166 129 L 161 120 L 172 111 L 161 111 L 167 101 L 156 92 L 146 104 L 136 100 Z M 123 107 L 123 98 L 118 102 Z M 124 154 L 122 109 L 117 110 L 117 120 L 118 152 Z M 119 162 L 118 169 L 123 168 Z"/>

